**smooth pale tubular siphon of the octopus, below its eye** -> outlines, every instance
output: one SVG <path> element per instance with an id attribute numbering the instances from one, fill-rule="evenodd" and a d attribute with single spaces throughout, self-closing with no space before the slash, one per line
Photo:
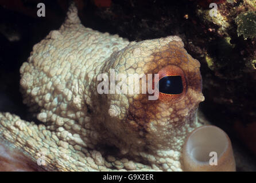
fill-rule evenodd
<path id="1" fill-rule="evenodd" d="M 183 160 L 186 171 L 234 172 L 236 169 L 230 138 L 212 125 L 200 126 L 188 135 L 183 146 Z"/>

